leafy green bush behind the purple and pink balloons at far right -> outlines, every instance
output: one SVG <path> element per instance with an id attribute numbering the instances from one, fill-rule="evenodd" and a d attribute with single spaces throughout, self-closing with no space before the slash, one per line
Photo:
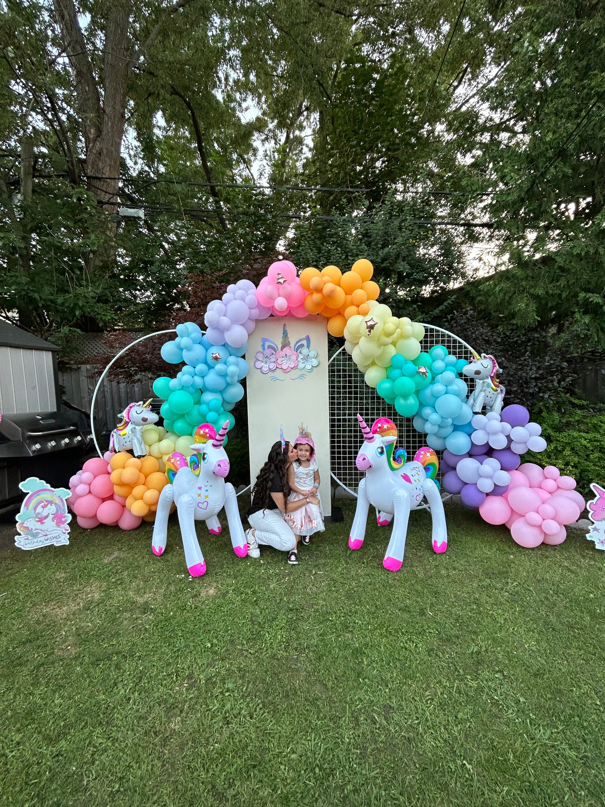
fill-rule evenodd
<path id="1" fill-rule="evenodd" d="M 594 498 L 590 483 L 605 485 L 605 406 L 561 395 L 536 406 L 532 420 L 541 425 L 548 446 L 541 454 L 528 452 L 524 462 L 557 466 L 574 477 L 585 499 Z"/>

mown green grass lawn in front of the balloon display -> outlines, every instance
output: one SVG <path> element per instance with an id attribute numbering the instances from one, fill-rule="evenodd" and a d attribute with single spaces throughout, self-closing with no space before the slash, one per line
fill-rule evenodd
<path id="1" fill-rule="evenodd" d="M 0 552 L 0 804 L 603 805 L 603 554 L 450 508 L 236 558 L 171 521 Z"/>

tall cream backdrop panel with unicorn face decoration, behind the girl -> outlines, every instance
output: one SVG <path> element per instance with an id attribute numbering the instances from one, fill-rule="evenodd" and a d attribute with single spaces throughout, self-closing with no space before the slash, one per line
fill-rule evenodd
<path id="1" fill-rule="evenodd" d="M 261 373 L 254 366 L 261 350 L 261 338 L 268 337 L 282 346 L 283 326 L 286 325 L 290 345 L 307 335 L 311 350 L 317 351 L 319 365 L 307 370 L 269 370 Z M 246 378 L 248 399 L 248 434 L 250 437 L 250 479 L 257 478 L 265 464 L 269 449 L 279 440 L 279 426 L 284 427 L 286 440 L 294 442 L 298 426 L 304 423 L 315 442 L 321 486 L 319 495 L 324 515 L 332 513 L 330 486 L 330 405 L 328 398 L 328 326 L 324 316 L 270 316 L 257 322 L 250 337 L 246 361 L 250 371 Z"/>

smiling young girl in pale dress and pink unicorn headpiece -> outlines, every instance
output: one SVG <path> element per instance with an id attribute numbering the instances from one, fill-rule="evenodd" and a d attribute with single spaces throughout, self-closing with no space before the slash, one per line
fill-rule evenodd
<path id="1" fill-rule="evenodd" d="M 288 466 L 288 484 L 290 485 L 289 502 L 307 499 L 307 504 L 296 512 L 288 513 L 286 521 L 292 527 L 298 538 L 303 537 L 303 544 L 307 546 L 311 542 L 313 533 L 323 533 L 323 511 L 321 501 L 313 504 L 309 501 L 309 496 L 317 496 L 319 490 L 319 470 L 315 459 L 315 444 L 313 437 L 301 424 L 298 429 L 298 437 L 294 442 L 297 459 Z"/>

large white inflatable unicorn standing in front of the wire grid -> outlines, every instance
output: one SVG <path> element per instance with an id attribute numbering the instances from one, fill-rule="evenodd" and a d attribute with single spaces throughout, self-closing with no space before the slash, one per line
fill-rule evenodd
<path id="1" fill-rule="evenodd" d="M 380 513 L 378 524 L 388 524 L 394 516 L 393 532 L 382 565 L 388 571 L 398 571 L 403 563 L 406 548 L 407 521 L 410 511 L 426 497 L 432 514 L 432 548 L 444 552 L 448 548 L 448 530 L 441 494 L 435 476 L 439 467 L 432 449 L 419 449 L 414 462 L 406 462 L 403 449 L 394 450 L 397 427 L 392 420 L 380 417 L 368 429 L 361 415 L 357 415 L 365 442 L 357 454 L 356 465 L 365 471 L 359 483 L 357 509 L 348 546 L 361 549 L 365 537 L 368 508 L 373 504 Z"/>

